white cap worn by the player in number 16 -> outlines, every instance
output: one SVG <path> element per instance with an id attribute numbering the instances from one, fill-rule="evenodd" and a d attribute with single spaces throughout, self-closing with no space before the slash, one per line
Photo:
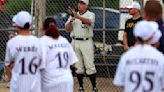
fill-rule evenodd
<path id="1" fill-rule="evenodd" d="M 32 16 L 27 11 L 18 12 L 12 19 L 15 25 L 24 27 L 26 23 L 32 24 Z"/>

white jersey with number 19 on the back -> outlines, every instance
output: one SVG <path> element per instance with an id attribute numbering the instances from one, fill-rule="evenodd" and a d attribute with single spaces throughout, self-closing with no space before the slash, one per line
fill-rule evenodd
<path id="1" fill-rule="evenodd" d="M 43 36 L 41 39 L 46 67 L 42 71 L 43 88 L 62 82 L 73 81 L 70 65 L 78 61 L 71 44 L 62 36 L 53 39 Z"/>

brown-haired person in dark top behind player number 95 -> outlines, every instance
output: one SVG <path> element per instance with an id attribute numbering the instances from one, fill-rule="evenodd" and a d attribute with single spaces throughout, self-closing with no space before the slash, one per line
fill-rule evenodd
<path id="1" fill-rule="evenodd" d="M 149 0 L 144 7 L 144 19 L 147 21 L 156 21 L 159 25 L 159 30 L 162 37 L 159 43 L 154 43 L 155 47 L 164 54 L 164 21 L 162 19 L 163 9 L 162 5 L 157 0 Z"/>

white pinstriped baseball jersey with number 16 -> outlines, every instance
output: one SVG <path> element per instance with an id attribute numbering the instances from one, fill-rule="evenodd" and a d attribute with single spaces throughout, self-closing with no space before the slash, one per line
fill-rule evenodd
<path id="1" fill-rule="evenodd" d="M 5 66 L 14 63 L 10 92 L 41 92 L 40 40 L 34 36 L 18 35 L 7 43 Z"/>

